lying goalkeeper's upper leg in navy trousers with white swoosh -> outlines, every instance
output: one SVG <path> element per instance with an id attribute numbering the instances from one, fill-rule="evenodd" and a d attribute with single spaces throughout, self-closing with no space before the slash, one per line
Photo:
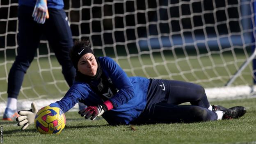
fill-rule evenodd
<path id="1" fill-rule="evenodd" d="M 177 80 L 152 80 L 147 93 L 146 107 L 155 103 L 179 105 L 187 102 L 204 108 L 210 106 L 204 88 L 200 85 Z"/>

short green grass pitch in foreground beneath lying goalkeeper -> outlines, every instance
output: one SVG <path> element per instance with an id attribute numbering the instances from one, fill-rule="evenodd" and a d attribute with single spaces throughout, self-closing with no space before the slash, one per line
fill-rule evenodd
<path id="1" fill-rule="evenodd" d="M 240 119 L 201 123 L 109 126 L 102 117 L 91 121 L 67 112 L 59 135 L 40 134 L 34 125 L 20 130 L 16 122 L 0 120 L 0 126 L 4 144 L 255 144 L 255 103 L 256 98 L 213 101 L 225 107 L 245 106 L 247 113 Z"/>

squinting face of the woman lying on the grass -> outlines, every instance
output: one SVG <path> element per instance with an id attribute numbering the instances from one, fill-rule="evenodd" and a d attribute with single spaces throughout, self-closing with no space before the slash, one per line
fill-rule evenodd
<path id="1" fill-rule="evenodd" d="M 78 61 L 78 71 L 84 75 L 94 76 L 97 73 L 98 64 L 92 53 L 83 55 Z"/>

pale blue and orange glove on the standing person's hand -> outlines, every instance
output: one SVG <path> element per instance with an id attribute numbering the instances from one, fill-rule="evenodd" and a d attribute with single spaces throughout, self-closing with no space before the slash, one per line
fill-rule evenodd
<path id="1" fill-rule="evenodd" d="M 34 21 L 43 24 L 46 18 L 49 18 L 47 0 L 37 0 L 32 14 Z"/>

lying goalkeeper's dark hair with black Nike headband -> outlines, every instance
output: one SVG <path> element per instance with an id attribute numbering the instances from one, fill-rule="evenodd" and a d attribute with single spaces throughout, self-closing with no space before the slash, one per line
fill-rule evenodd
<path id="1" fill-rule="evenodd" d="M 86 53 L 92 53 L 94 55 L 93 51 L 91 50 L 90 41 L 89 40 L 82 40 L 82 41 L 75 40 L 74 46 L 72 47 L 72 49 L 70 50 L 70 53 L 69 53 L 69 57 L 73 63 L 73 66 L 75 67 L 75 69 L 78 69 L 77 68 L 78 61 Z"/>

